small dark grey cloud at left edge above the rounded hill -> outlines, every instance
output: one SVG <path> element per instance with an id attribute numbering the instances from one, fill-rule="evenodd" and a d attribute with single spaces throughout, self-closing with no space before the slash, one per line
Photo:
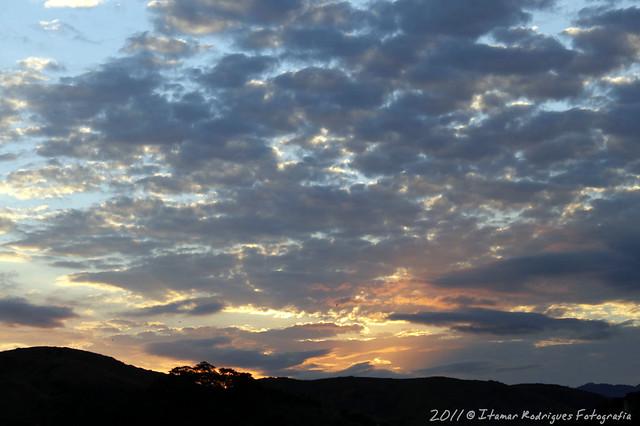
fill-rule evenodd
<path id="1" fill-rule="evenodd" d="M 22 298 L 0 299 L 0 322 L 12 326 L 62 327 L 64 320 L 74 317 L 76 314 L 66 307 L 33 305 Z"/>

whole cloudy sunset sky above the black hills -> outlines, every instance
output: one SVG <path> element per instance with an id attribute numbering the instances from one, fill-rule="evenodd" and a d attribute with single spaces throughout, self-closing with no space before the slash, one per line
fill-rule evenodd
<path id="1" fill-rule="evenodd" d="M 640 383 L 640 4 L 20 0 L 0 350 Z"/>

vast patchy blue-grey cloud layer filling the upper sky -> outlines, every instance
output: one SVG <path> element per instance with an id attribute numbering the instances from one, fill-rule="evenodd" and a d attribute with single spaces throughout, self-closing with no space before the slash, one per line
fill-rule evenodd
<path id="1" fill-rule="evenodd" d="M 638 12 L 585 10 L 561 42 L 532 26 L 552 5 L 152 2 L 155 29 L 120 56 L 4 85 L 28 105 L 49 160 L 8 173 L 12 195 L 106 194 L 10 244 L 86 265 L 72 281 L 154 297 L 322 310 L 374 298 L 402 269 L 414 287 L 542 305 L 619 298 L 636 288 L 637 196 L 624 188 L 636 176 L 638 90 L 609 74 L 637 56 Z M 231 45 L 209 55 L 202 34 Z M 183 61 L 194 57 L 206 60 Z M 15 105 L 3 103 L 5 121 Z M 202 199 L 178 201 L 189 197 Z M 104 261 L 114 254 L 125 257 Z M 537 291 L 585 276 L 581 292 Z"/>

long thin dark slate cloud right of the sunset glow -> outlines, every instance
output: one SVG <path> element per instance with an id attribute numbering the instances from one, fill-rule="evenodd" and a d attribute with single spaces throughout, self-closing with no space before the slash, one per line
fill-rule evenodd
<path id="1" fill-rule="evenodd" d="M 616 326 L 605 321 L 576 318 L 552 318 L 535 312 L 505 312 L 467 308 L 457 311 L 395 313 L 391 320 L 451 327 L 463 333 L 493 335 L 568 335 L 577 339 L 597 340 L 609 337 Z"/>

